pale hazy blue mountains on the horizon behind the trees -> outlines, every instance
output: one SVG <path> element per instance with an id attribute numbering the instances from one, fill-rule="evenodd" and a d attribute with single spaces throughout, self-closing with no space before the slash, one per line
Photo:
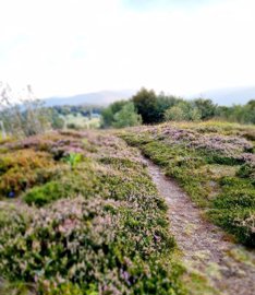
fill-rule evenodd
<path id="1" fill-rule="evenodd" d="M 100 91 L 85 94 L 77 94 L 66 97 L 50 97 L 44 99 L 46 106 L 62 105 L 98 105 L 107 106 L 119 99 L 127 99 L 136 93 L 135 90 L 124 91 Z M 185 98 L 210 98 L 218 105 L 231 106 L 233 104 L 244 105 L 251 99 L 255 99 L 255 86 L 251 87 L 229 87 L 220 90 L 210 90 L 194 95 L 187 95 Z"/>

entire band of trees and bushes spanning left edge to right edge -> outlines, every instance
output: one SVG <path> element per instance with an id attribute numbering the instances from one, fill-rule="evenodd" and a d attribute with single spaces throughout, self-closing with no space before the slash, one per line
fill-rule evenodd
<path id="1" fill-rule="evenodd" d="M 13 97 L 15 99 L 13 99 Z M 101 115 L 101 127 L 123 128 L 163 121 L 199 121 L 220 119 L 255 123 L 255 99 L 245 105 L 218 106 L 211 99 L 185 101 L 153 90 L 141 88 L 127 101 L 117 101 L 106 108 L 98 106 L 45 107 L 29 86 L 24 97 L 15 97 L 9 85 L 0 84 L 0 135 L 29 137 L 47 130 L 62 129 L 64 116 Z"/>

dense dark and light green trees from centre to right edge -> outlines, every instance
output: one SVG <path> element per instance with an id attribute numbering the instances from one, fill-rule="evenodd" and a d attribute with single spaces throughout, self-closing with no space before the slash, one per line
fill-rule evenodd
<path id="1" fill-rule="evenodd" d="M 163 121 L 199 121 L 212 118 L 255 123 L 255 101 L 246 105 L 218 106 L 211 99 L 186 101 L 142 88 L 129 101 L 118 101 L 101 111 L 102 127 L 131 127 Z"/>

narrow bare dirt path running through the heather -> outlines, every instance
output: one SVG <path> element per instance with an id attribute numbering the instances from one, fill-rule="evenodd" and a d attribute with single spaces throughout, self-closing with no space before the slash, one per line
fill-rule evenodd
<path id="1" fill-rule="evenodd" d="M 220 294 L 255 294 L 255 252 L 227 239 L 217 226 L 206 222 L 201 210 L 175 181 L 145 160 L 160 194 L 169 204 L 171 232 L 184 256 L 184 264 L 209 279 Z M 193 292 L 196 294 L 196 292 Z"/>

